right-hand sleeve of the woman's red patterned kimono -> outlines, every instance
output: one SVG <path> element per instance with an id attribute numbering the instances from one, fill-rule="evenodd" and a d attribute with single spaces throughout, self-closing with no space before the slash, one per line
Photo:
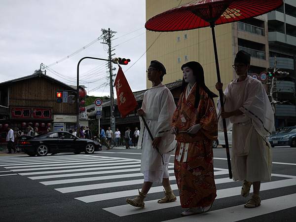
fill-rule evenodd
<path id="1" fill-rule="evenodd" d="M 210 139 L 216 139 L 218 136 L 218 118 L 215 104 L 209 97 L 205 98 L 205 114 L 200 119 L 201 131 Z"/>

